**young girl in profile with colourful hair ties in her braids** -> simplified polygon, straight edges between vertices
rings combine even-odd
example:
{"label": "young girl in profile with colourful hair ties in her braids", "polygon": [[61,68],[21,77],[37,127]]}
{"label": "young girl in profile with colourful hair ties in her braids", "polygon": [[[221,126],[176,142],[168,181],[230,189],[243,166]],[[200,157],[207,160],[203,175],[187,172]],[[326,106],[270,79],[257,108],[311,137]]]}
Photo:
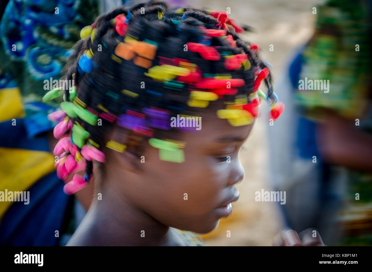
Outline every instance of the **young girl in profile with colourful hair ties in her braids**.
{"label": "young girl in profile with colourful hair ties in her braids", "polygon": [[44,97],[64,100],[50,116],[60,120],[64,191],[94,174],[92,204],[68,245],[195,245],[185,231],[208,233],[231,214],[260,100],[271,122],[284,110],[243,31],[227,14],[154,1],[81,30],[65,77],[75,86]]}

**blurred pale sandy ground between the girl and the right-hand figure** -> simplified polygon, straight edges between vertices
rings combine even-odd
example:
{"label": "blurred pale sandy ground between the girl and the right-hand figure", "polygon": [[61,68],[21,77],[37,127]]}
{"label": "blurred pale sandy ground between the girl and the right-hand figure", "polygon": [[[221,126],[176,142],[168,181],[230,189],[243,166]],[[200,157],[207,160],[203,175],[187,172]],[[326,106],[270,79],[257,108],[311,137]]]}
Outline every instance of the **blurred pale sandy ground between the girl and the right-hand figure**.
{"label": "blurred pale sandy ground between the girl and the right-hand figure", "polygon": [[[230,7],[229,17],[240,25],[253,27],[255,32],[247,33],[244,38],[259,45],[261,57],[273,65],[274,80],[288,69],[295,50],[311,37],[316,16],[312,14],[312,7],[317,6],[316,1],[310,0],[186,1],[193,7],[209,10],[226,11]],[[269,51],[270,44],[274,46],[273,52]],[[280,100],[280,93],[278,96]],[[254,201],[256,191],[272,190],[268,180],[266,110],[262,111],[240,152],[246,171],[244,180],[237,185],[240,198],[232,204],[232,215],[222,218],[217,229],[202,236],[207,246],[268,246],[283,224],[278,203]],[[226,237],[227,230],[231,231],[231,237]]]}

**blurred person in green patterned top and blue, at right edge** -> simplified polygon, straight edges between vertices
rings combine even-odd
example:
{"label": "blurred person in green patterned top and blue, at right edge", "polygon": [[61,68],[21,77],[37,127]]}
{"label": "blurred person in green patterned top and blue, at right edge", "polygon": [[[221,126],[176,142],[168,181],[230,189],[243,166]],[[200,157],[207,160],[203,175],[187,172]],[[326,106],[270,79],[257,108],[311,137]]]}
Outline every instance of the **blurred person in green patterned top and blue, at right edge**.
{"label": "blurred person in green patterned top and blue, at right edge", "polygon": [[315,227],[327,245],[372,245],[371,3],[317,7],[314,35],[276,84],[294,105],[269,135],[280,208],[287,226]]}

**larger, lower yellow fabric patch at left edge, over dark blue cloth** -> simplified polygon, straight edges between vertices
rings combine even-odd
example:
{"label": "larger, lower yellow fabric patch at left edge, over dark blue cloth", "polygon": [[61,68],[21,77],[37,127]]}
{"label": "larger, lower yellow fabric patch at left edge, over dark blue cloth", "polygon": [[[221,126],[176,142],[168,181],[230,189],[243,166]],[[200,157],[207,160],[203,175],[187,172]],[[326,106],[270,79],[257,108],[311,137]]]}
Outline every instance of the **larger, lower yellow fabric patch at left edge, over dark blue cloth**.
{"label": "larger, lower yellow fabric patch at left edge, over dark blue cloth", "polygon": [[[55,171],[49,152],[0,147],[0,191],[26,191],[36,181]],[[0,221],[12,202],[0,202]]]}

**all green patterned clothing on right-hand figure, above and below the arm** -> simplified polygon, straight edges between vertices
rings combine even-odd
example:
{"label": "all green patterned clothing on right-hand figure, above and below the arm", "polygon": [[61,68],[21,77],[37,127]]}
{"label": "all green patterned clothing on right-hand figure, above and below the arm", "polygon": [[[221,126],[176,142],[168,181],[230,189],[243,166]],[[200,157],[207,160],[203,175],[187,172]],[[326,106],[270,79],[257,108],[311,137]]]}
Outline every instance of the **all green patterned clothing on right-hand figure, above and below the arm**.
{"label": "all green patterned clothing on right-hand figure, above and below the arm", "polygon": [[[299,79],[329,80],[329,92],[296,90],[295,103],[310,119],[321,120],[322,109],[333,110],[347,119],[360,119],[356,128],[372,133],[371,110],[366,114],[372,106],[371,7],[366,3],[332,0],[317,8],[315,33],[302,54]],[[339,245],[371,246],[372,174],[351,169],[346,173],[346,204],[337,215]]]}

